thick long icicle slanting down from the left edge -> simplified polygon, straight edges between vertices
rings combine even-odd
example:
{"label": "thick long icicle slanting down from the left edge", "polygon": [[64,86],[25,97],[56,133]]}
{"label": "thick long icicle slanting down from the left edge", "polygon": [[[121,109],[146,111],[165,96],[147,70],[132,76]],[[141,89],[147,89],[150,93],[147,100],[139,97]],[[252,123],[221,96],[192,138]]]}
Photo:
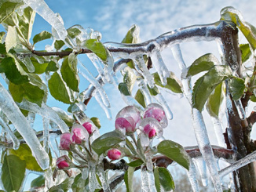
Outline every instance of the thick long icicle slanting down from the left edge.
{"label": "thick long icicle slanting down from the left edge", "polygon": [[20,132],[20,135],[23,136],[27,145],[31,148],[32,153],[35,155],[38,165],[40,165],[42,169],[49,168],[49,156],[46,150],[42,148],[38,138],[35,136],[35,132],[27,122],[27,119],[20,112],[19,107],[16,106],[13,97],[2,87],[2,84],[0,84],[0,93],[0,107],[3,113],[12,121],[16,130]]}

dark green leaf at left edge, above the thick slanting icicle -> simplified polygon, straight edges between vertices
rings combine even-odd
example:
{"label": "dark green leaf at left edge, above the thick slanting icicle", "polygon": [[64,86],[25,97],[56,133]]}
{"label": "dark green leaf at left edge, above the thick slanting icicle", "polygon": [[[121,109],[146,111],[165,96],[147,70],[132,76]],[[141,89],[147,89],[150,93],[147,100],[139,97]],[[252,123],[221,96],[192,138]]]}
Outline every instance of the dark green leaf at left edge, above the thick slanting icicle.
{"label": "dark green leaf at left edge, above the thick slanting icicle", "polygon": [[6,57],[0,63],[0,73],[5,73],[6,78],[16,85],[28,82],[27,75],[21,74],[20,70],[18,70],[20,68],[17,66],[18,64],[12,57]]}

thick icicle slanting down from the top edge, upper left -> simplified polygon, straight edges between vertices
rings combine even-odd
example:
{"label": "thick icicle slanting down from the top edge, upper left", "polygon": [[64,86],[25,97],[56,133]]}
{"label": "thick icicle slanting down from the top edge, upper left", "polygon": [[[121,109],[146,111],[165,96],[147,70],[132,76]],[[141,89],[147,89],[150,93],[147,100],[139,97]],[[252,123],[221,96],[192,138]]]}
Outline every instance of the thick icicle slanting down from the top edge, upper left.
{"label": "thick icicle slanting down from the top edge, upper left", "polygon": [[57,34],[61,40],[64,41],[65,38],[67,38],[68,32],[66,31],[64,25],[61,23],[55,13],[49,9],[49,6],[46,4],[46,2],[43,0],[24,0],[24,3],[34,9],[38,15],[42,16],[42,18],[57,31]]}

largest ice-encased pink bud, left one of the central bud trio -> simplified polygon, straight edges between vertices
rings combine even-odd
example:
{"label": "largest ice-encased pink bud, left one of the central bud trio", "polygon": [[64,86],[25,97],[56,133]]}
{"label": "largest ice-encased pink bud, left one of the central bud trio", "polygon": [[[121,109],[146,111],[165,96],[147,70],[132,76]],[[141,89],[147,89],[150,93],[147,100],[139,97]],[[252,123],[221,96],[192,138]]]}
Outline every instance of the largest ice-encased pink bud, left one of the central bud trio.
{"label": "largest ice-encased pink bud, left one of the central bud trio", "polygon": [[126,129],[126,134],[135,132],[138,121],[141,120],[140,111],[133,106],[124,107],[115,118],[115,129]]}

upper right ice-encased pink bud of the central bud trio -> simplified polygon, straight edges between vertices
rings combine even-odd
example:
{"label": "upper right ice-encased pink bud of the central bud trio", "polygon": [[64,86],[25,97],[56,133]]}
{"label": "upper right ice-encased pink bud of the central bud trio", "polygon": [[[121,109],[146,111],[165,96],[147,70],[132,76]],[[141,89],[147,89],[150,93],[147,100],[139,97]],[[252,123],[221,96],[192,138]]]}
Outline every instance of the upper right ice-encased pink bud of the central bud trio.
{"label": "upper right ice-encased pink bud of the central bud trio", "polygon": [[144,118],[155,118],[157,121],[159,121],[163,128],[166,128],[168,125],[163,107],[157,103],[151,103],[148,105],[144,112]]}

